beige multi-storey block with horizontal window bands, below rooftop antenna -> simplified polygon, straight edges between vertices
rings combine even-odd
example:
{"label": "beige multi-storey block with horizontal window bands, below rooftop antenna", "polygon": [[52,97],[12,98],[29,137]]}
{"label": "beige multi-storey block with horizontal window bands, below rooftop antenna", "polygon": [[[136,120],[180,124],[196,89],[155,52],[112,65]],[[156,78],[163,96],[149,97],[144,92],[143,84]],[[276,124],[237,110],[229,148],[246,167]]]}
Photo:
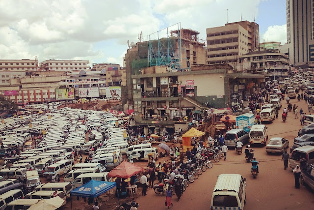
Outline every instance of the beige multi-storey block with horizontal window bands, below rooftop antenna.
{"label": "beige multi-storey block with horizontal window bands, below rooftop antenna", "polygon": [[206,29],[207,64],[228,63],[237,69],[239,56],[249,52],[248,31],[239,24]]}

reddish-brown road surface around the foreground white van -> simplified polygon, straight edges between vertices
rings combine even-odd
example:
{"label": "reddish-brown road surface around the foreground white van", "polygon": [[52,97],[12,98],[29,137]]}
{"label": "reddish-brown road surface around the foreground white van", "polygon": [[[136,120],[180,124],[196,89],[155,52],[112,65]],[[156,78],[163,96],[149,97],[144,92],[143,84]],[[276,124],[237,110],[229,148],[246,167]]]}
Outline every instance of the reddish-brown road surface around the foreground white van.
{"label": "reddish-brown road surface around the foreground white van", "polygon": [[[308,111],[305,101],[298,102],[296,99],[290,100],[291,104],[297,104],[298,109]],[[287,107],[283,101],[283,108]],[[308,112],[305,112],[308,113]],[[283,122],[280,118],[272,124],[268,124],[268,136],[284,137],[289,140],[289,146],[293,144],[293,139],[297,131],[302,128],[299,120],[294,119],[292,112],[288,113],[288,119]],[[183,193],[180,201],[173,196],[173,210],[205,210],[210,209],[210,198],[215,186],[217,176],[225,173],[241,174],[247,179],[247,210],[313,210],[314,193],[307,187],[294,188],[294,176],[292,170],[284,170],[281,155],[266,154],[264,147],[255,147],[255,157],[260,161],[260,173],[257,179],[253,179],[250,174],[251,164],[246,163],[244,153],[238,155],[235,150],[229,150],[227,160],[215,163],[211,169],[191,183]],[[139,193],[141,188],[139,188]],[[147,196],[142,196],[136,200],[140,204],[140,209],[166,209],[164,206],[165,196],[156,195],[151,189]]]}

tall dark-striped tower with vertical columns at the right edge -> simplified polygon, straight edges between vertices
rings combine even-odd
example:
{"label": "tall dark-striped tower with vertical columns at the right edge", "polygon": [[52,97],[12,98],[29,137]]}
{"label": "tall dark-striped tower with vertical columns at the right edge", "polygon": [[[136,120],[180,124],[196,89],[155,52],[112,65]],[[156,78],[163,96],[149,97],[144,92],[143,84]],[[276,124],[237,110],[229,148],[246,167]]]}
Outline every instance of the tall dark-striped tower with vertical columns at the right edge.
{"label": "tall dark-striped tower with vertical columns at the right edge", "polygon": [[287,0],[287,43],[295,66],[314,66],[314,1]]}

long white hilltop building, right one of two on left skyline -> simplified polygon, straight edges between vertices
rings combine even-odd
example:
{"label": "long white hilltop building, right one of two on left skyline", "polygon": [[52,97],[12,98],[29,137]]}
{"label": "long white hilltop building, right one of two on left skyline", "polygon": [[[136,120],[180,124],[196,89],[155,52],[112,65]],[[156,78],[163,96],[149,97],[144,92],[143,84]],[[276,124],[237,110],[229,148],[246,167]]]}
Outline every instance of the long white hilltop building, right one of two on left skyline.
{"label": "long white hilltop building, right one of two on left skyline", "polygon": [[81,71],[88,70],[88,60],[44,60],[39,63],[42,71]]}

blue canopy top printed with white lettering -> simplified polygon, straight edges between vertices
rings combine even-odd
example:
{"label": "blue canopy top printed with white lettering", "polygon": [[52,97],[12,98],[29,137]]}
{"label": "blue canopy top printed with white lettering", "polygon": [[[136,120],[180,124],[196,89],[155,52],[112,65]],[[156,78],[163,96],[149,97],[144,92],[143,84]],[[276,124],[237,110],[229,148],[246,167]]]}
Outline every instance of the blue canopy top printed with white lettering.
{"label": "blue canopy top printed with white lettering", "polygon": [[71,196],[95,198],[116,186],[116,182],[90,180],[86,184],[72,190]]}

